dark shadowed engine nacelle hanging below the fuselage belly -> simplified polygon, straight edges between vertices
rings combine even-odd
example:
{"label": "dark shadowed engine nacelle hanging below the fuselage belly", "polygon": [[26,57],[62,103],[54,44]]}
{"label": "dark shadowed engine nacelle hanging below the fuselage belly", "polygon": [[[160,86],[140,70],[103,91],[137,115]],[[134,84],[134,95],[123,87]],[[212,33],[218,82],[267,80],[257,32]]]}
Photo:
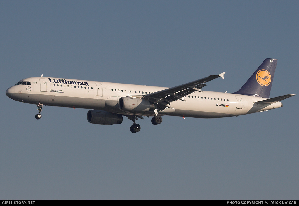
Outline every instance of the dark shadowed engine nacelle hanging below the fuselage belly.
{"label": "dark shadowed engine nacelle hanging below the fuselage belly", "polygon": [[97,125],[115,125],[123,122],[123,116],[102,110],[89,110],[87,112],[87,121]]}

